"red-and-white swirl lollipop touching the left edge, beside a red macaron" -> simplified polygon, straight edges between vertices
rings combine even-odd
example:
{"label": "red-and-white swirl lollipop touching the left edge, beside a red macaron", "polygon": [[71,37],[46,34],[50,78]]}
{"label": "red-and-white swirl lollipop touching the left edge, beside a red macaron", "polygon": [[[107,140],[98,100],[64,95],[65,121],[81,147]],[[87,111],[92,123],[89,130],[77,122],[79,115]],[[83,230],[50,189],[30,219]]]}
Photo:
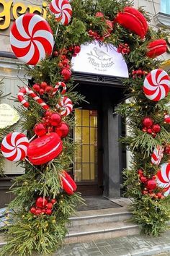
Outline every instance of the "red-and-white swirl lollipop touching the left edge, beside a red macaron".
{"label": "red-and-white swirl lollipop touching the left edge, beside a red macaron", "polygon": [[9,133],[1,142],[1,153],[9,161],[21,161],[27,155],[29,144],[29,140],[22,133]]}

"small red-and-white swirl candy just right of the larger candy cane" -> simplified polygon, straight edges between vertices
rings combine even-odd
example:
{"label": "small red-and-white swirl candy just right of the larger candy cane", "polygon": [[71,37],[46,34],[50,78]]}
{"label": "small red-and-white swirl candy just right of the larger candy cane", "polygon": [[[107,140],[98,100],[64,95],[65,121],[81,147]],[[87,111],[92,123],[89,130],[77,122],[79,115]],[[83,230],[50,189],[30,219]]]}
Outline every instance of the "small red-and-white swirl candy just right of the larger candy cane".
{"label": "small red-and-white swirl candy just right of the larger candy cane", "polygon": [[59,109],[61,116],[68,116],[73,110],[73,103],[68,97],[62,97],[56,107]]}

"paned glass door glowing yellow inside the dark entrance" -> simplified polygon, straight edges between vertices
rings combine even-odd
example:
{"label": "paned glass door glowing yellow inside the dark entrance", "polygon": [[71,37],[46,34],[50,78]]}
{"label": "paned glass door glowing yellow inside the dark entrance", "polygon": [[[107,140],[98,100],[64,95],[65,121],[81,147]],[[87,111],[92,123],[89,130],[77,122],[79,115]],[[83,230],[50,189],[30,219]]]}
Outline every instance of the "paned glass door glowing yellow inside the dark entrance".
{"label": "paned glass door glowing yellow inside the dark entrance", "polygon": [[97,109],[75,110],[74,142],[76,153],[73,174],[78,191],[82,195],[102,194],[102,155],[99,111]]}

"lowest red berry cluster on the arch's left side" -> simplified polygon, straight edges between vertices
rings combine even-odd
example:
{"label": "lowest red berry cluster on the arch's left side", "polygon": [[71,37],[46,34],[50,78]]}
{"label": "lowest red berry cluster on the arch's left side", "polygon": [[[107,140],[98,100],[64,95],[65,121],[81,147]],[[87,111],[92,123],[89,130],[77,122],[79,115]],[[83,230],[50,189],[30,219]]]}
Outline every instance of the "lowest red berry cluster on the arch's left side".
{"label": "lowest red berry cluster on the arch's left side", "polygon": [[57,200],[49,200],[45,197],[37,197],[35,206],[30,209],[30,212],[36,216],[41,214],[51,215],[53,213],[53,205]]}

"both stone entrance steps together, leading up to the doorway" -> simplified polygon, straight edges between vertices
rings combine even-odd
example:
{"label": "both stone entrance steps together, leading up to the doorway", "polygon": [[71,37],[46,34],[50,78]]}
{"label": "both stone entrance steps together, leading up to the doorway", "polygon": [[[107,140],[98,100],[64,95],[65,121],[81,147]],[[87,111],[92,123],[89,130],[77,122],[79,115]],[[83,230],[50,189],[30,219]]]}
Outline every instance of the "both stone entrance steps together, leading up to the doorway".
{"label": "both stone entrance steps together, leading up to the doorway", "polygon": [[131,223],[127,208],[109,208],[77,212],[70,218],[66,243],[88,242],[117,236],[139,234],[138,225]]}

